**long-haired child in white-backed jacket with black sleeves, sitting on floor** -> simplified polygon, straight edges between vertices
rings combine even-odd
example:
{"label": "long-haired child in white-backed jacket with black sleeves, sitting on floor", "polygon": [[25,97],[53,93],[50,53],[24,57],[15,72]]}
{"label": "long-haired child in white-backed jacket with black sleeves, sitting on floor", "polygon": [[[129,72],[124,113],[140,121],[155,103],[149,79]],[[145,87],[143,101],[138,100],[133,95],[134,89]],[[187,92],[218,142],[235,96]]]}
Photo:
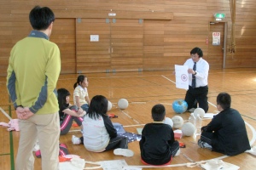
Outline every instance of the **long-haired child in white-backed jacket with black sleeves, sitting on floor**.
{"label": "long-haired child in white-backed jacket with black sleeves, sitting on floor", "polygon": [[133,156],[133,151],[128,150],[128,139],[117,134],[107,111],[108,99],[102,95],[94,96],[84,116],[83,137],[79,139],[73,136],[73,144],[84,144],[86,150],[93,152],[115,149],[114,155]]}

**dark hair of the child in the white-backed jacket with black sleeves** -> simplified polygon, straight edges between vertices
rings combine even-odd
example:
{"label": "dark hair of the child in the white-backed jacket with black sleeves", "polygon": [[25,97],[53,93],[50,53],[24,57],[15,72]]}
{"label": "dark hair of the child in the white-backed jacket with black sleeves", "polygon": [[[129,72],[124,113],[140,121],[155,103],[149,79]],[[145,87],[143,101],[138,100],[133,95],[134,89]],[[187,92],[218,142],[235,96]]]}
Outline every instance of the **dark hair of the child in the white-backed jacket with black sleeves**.
{"label": "dark hair of the child in the white-backed jacket with black sleeves", "polygon": [[107,115],[108,99],[102,95],[96,95],[90,100],[88,116],[91,119],[97,119],[100,116]]}

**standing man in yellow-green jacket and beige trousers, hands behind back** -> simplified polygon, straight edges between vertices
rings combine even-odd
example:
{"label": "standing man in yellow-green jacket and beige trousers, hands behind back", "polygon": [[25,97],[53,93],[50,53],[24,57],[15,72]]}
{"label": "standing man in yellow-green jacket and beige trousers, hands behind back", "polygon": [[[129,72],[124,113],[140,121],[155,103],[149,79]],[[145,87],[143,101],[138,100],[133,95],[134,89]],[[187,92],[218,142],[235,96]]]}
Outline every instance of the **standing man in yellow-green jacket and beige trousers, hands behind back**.
{"label": "standing man in yellow-green jacket and beige trousers, hands behind back", "polygon": [[61,54],[49,42],[55,14],[36,6],[29,14],[33,30],[10,52],[7,88],[19,118],[20,142],[15,169],[33,169],[32,149],[38,139],[42,169],[58,169],[60,119],[56,83]]}

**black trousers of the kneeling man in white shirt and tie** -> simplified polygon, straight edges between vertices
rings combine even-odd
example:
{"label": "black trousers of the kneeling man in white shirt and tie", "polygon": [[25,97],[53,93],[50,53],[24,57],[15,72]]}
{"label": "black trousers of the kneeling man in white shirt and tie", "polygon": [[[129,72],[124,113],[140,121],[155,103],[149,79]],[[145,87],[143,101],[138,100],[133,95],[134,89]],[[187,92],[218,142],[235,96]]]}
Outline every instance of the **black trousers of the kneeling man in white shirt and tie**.
{"label": "black trousers of the kneeling man in white shirt and tie", "polygon": [[208,86],[200,88],[192,88],[189,86],[187,90],[185,101],[188,103],[188,110],[191,108],[196,108],[196,104],[199,104],[199,107],[202,108],[206,113],[209,109],[208,105]]}

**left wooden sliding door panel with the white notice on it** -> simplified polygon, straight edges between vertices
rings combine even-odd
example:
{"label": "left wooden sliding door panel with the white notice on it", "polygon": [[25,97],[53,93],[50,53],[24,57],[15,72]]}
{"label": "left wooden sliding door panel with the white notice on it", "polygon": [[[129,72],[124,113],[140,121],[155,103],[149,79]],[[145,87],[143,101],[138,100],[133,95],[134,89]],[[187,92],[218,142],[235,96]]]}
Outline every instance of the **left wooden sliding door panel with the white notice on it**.
{"label": "left wooden sliding door panel with the white notice on it", "polygon": [[[90,42],[98,35],[98,42]],[[110,24],[106,19],[80,19],[76,26],[77,72],[106,72],[111,70]]]}

